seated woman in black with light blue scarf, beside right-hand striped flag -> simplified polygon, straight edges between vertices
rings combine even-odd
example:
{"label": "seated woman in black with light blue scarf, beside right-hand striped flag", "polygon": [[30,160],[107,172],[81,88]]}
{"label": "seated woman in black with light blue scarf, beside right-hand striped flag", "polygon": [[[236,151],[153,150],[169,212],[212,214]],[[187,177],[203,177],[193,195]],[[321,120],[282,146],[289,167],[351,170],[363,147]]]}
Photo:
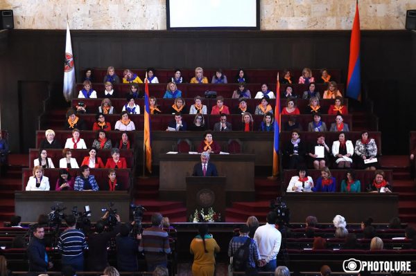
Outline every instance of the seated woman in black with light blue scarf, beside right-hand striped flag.
{"label": "seated woman in black with light blue scarf, beside right-hand striped flag", "polygon": [[284,155],[288,158],[288,169],[297,169],[304,164],[306,147],[300,139],[299,131],[292,131],[292,138],[284,146]]}

